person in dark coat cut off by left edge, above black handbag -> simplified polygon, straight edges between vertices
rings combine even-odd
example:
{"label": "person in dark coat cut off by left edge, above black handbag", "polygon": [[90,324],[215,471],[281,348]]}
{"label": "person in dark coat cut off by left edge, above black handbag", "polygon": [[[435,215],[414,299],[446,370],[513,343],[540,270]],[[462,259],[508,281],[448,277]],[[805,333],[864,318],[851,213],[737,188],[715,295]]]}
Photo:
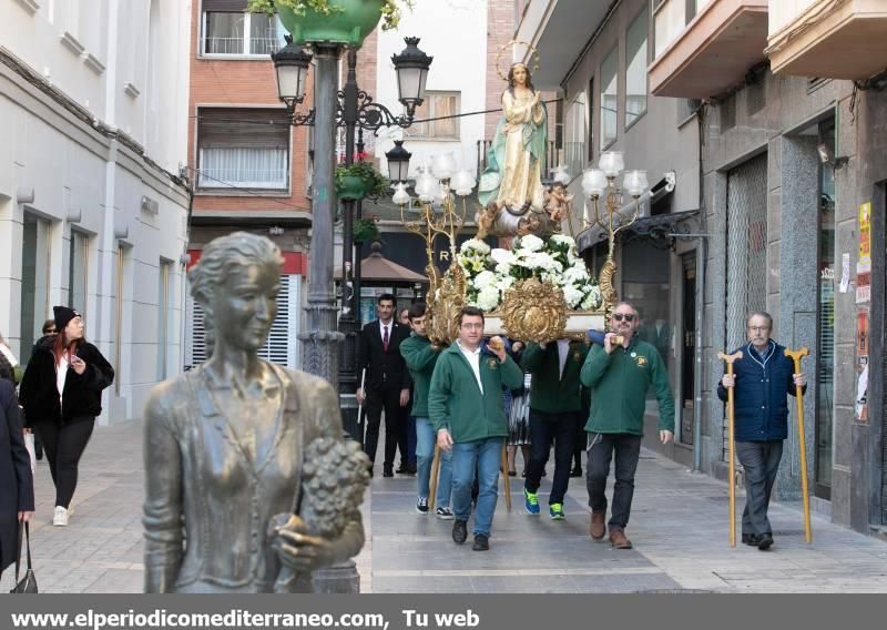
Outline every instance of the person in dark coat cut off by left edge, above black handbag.
{"label": "person in dark coat cut off by left edge, above black handbag", "polygon": [[34,515],[31,457],[24,448],[16,388],[0,380],[0,575],[16,561],[19,527]]}

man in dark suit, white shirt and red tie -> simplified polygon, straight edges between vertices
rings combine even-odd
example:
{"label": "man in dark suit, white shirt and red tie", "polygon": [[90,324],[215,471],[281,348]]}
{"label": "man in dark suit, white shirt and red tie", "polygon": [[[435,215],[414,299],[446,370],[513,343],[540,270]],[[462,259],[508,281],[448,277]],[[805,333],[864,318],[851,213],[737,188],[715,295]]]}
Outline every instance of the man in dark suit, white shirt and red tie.
{"label": "man in dark suit, white shirt and red tie", "polygon": [[[367,410],[367,434],[364,451],[376,460],[381,411],[385,410],[385,463],[383,476],[394,477],[394,459],[398,445],[398,431],[409,403],[410,376],[400,354],[400,343],[409,337],[409,327],[395,322],[395,296],[385,293],[376,301],[378,319],[374,319],[360,333],[357,370],[366,369],[365,387],[358,388],[357,402]],[[404,463],[407,454],[400,454]],[[371,471],[370,471],[371,474]]]}

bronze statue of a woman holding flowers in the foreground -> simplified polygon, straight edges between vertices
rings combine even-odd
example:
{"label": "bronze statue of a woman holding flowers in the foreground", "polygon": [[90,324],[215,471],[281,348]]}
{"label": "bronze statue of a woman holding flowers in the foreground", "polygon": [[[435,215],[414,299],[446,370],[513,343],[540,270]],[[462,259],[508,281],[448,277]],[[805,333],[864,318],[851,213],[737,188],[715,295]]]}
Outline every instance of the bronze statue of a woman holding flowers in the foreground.
{"label": "bronze statue of a woman holding flowers in the foreground", "polygon": [[[282,262],[271,241],[241,232],[210,243],[188,273],[212,356],[155,387],[145,408],[145,592],[310,592],[310,571],[364,545],[368,461],[343,440],[336,392],[256,356]],[[318,444],[322,456],[306,455]],[[329,470],[335,453],[345,465]],[[325,517],[338,526],[294,516],[312,476],[341,488]]]}

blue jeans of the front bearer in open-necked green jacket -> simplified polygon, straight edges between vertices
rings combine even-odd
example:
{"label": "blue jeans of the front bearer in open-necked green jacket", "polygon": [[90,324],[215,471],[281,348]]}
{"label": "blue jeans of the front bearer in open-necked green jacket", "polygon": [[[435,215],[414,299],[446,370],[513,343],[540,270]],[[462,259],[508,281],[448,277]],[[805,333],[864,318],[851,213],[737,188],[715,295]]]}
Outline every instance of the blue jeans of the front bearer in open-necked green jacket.
{"label": "blue jeans of the front bearer in open-necked green jacket", "polygon": [[492,528],[504,439],[488,437],[452,445],[452,511],[459,520],[468,520],[471,516],[471,485],[475,470],[478,474],[480,492],[475,512],[475,536],[489,536]]}

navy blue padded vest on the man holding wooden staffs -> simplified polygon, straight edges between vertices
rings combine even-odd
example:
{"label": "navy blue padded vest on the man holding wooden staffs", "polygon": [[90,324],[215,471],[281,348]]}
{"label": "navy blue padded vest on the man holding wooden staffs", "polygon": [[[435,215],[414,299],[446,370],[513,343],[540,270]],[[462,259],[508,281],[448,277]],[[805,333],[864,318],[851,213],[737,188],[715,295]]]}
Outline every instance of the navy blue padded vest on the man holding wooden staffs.
{"label": "navy blue padded vest on the man holding wooden staffs", "polygon": [[[763,362],[751,342],[738,348],[734,362],[734,437],[737,441],[767,441],[788,437],[788,399],[795,395],[795,365],[785,348],[771,339],[771,353]],[[726,388],[717,384],[717,397],[726,402]]]}

